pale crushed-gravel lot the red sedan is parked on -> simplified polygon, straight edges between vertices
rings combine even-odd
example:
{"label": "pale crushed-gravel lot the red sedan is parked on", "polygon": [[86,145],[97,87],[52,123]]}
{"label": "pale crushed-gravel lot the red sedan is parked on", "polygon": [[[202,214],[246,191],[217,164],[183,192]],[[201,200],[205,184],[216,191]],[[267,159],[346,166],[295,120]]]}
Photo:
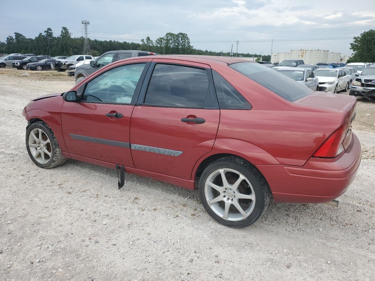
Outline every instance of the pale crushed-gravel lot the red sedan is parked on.
{"label": "pale crushed-gravel lot the red sedan is parked on", "polygon": [[[23,107],[74,85],[0,69],[0,280],[374,280],[375,103],[359,101],[362,163],[339,208],[272,202],[246,229],[213,221],[198,193],[68,160],[43,170]],[[342,93],[348,94],[348,93]]]}

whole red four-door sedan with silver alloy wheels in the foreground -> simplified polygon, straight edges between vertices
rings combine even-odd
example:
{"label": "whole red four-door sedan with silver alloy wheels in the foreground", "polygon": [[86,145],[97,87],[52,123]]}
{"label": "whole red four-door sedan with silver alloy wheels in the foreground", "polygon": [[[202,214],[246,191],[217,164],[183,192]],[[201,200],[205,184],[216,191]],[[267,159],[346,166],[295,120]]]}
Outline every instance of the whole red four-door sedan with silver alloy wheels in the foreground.
{"label": "whole red four-door sedan with silver alloy wheels in the foreground", "polygon": [[208,214],[254,223],[275,201],[330,202],[361,160],[356,99],[240,58],[137,57],[23,110],[31,160],[73,158],[198,189]]}

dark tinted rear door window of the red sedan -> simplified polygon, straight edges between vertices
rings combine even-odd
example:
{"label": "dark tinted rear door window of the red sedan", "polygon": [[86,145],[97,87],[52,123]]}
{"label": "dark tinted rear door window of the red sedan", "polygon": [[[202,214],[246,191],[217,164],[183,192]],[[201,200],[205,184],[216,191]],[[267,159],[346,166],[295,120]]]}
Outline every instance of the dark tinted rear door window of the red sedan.
{"label": "dark tinted rear door window of the red sedan", "polygon": [[208,85],[205,69],[156,64],[144,102],[150,105],[203,108]]}

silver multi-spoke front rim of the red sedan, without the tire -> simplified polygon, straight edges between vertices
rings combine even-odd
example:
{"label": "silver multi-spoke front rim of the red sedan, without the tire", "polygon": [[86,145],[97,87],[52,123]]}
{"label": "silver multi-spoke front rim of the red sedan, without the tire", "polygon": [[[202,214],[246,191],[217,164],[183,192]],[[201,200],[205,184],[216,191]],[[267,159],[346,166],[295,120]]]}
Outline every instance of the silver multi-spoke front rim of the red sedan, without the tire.
{"label": "silver multi-spoke front rim of the red sedan, without the tire", "polygon": [[46,164],[51,159],[51,142],[42,129],[36,128],[30,132],[28,135],[28,147],[31,155],[38,163]]}

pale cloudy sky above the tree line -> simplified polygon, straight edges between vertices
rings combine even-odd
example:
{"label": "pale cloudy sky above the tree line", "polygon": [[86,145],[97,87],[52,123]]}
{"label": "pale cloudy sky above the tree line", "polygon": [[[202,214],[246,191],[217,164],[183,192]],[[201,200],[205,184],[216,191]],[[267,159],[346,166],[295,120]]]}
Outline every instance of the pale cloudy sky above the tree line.
{"label": "pale cloudy sky above the tree line", "polygon": [[[24,2],[24,3],[23,3]],[[90,38],[139,42],[167,32],[187,33],[198,49],[270,54],[291,49],[326,49],[351,54],[350,42],[375,29],[375,2],[362,0],[1,0],[0,41],[14,32],[35,37],[62,26],[81,36],[90,20]],[[13,11],[13,12],[6,12]]]}

